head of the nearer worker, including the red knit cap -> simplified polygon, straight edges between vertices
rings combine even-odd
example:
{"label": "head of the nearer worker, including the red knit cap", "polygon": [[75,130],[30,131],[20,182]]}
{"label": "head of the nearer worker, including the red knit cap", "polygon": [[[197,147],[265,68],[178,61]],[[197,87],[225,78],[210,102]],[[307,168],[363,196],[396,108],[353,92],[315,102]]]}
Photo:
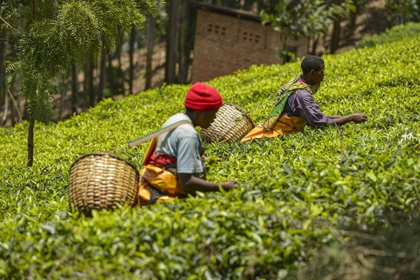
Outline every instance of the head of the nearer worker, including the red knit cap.
{"label": "head of the nearer worker, including the red knit cap", "polygon": [[187,112],[193,116],[193,124],[207,128],[216,118],[216,112],[223,105],[223,98],[217,90],[203,83],[195,83],[188,90],[184,102]]}

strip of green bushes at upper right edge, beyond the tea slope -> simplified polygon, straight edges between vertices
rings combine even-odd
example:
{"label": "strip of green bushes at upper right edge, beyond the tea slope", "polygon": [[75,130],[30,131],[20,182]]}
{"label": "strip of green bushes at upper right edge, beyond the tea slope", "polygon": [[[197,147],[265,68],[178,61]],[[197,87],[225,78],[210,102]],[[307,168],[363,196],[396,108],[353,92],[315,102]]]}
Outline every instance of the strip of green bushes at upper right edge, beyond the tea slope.
{"label": "strip of green bushes at upper right edge, beyond the tea slope", "polygon": [[397,25],[386,29],[385,33],[376,36],[365,36],[356,43],[358,48],[373,47],[383,43],[400,41],[402,38],[418,37],[420,34],[420,24],[409,22],[405,25]]}

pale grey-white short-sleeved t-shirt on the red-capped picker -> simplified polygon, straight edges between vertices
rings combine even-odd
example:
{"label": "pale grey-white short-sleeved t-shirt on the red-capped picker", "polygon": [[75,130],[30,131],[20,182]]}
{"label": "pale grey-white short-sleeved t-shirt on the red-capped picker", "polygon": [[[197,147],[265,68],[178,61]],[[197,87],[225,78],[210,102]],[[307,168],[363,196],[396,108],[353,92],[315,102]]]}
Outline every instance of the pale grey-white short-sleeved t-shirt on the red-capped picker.
{"label": "pale grey-white short-sleeved t-shirt on the red-capped picker", "polygon": [[[177,113],[170,117],[162,127],[167,127],[181,120],[190,118],[185,113]],[[203,167],[200,157],[202,150],[202,140],[193,125],[180,125],[174,130],[166,132],[158,136],[156,144],[156,155],[166,153],[170,157],[176,158],[176,172],[195,174],[203,173]]]}

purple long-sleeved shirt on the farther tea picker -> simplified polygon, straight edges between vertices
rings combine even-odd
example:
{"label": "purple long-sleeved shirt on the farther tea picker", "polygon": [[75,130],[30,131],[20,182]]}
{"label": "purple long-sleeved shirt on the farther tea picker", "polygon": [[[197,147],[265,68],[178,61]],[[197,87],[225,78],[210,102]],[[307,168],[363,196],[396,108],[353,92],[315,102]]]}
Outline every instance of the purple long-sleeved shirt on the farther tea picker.
{"label": "purple long-sleeved shirt on the farther tea picker", "polygon": [[288,98],[283,113],[287,116],[300,117],[306,120],[307,125],[320,127],[325,125],[334,125],[332,118],[327,118],[319,110],[314,97],[307,90],[296,90]]}

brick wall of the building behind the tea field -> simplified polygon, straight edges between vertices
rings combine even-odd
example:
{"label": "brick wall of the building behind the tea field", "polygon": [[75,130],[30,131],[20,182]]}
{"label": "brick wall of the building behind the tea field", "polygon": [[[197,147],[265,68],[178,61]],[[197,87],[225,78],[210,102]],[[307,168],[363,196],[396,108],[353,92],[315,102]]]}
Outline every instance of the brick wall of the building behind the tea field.
{"label": "brick wall of the building behind the tea field", "polygon": [[[307,38],[292,41],[298,57],[307,55]],[[260,22],[198,10],[191,82],[228,75],[253,64],[277,64],[279,32]]]}

